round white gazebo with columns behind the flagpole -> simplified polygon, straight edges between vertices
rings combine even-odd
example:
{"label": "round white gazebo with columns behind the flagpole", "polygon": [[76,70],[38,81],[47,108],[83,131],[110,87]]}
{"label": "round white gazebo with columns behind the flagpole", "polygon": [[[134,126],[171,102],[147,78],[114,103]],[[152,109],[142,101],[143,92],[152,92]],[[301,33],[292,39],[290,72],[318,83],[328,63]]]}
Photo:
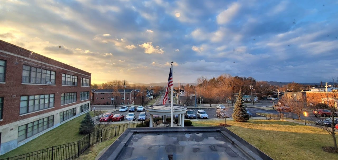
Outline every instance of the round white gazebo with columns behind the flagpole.
{"label": "round white gazebo with columns behind the flagpole", "polygon": [[[173,105],[173,115],[178,115],[178,123],[181,124],[181,127],[184,127],[184,113],[187,110],[187,106],[184,105]],[[150,105],[146,106],[145,110],[150,114],[149,127],[153,127],[153,115],[164,115],[164,119],[167,119],[167,116],[171,116],[171,104],[166,105]]]}

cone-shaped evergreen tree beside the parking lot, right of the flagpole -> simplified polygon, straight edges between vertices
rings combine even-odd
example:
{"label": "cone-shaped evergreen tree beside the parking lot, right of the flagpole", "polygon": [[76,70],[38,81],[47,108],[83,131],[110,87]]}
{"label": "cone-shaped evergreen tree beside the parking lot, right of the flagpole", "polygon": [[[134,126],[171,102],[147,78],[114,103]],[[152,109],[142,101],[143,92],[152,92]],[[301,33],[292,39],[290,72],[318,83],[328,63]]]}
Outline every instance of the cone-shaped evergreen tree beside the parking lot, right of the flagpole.
{"label": "cone-shaped evergreen tree beside the parking lot, right of the flagpole", "polygon": [[246,112],[246,107],[244,105],[241,90],[238,93],[238,98],[235,103],[234,113],[232,114],[232,117],[236,122],[246,122],[247,120],[249,120],[249,114]]}

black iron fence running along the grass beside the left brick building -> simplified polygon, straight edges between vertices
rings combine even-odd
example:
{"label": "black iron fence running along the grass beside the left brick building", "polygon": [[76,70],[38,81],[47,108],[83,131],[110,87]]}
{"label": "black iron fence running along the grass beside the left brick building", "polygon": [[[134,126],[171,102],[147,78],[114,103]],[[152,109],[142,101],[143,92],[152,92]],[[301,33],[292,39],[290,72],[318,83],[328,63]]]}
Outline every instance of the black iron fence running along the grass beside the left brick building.
{"label": "black iron fence running along the grass beside the left brick building", "polygon": [[144,123],[144,121],[136,121],[116,125],[115,127],[107,128],[101,131],[90,133],[82,139],[52,146],[43,150],[26,153],[23,155],[8,157],[0,160],[68,160],[79,157],[81,153],[86,151],[90,146],[100,143],[104,140],[111,139],[122,134],[127,128],[135,128],[137,124]]}

